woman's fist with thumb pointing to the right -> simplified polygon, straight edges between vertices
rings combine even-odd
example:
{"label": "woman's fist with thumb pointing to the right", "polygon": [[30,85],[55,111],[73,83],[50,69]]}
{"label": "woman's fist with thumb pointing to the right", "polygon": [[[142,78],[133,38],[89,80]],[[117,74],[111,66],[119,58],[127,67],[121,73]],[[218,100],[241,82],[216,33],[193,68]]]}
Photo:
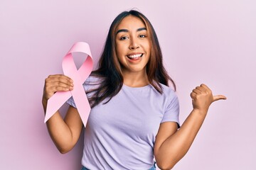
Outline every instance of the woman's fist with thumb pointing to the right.
{"label": "woman's fist with thumb pointing to the right", "polygon": [[207,113],[210,104],[214,101],[226,99],[223,95],[213,96],[212,91],[205,84],[201,84],[201,86],[197,86],[196,89],[193,89],[191,98],[193,109],[201,113]]}

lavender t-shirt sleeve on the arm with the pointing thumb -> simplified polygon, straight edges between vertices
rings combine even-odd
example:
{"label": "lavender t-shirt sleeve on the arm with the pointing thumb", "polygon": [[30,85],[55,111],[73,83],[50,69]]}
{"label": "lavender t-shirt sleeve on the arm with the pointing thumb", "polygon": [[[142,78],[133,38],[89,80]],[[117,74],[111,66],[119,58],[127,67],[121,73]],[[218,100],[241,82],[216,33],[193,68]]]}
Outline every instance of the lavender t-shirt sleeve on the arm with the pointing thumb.
{"label": "lavender t-shirt sleeve on the arm with the pointing thumb", "polygon": [[164,116],[161,120],[161,123],[164,122],[176,122],[178,124],[178,128],[180,128],[180,123],[179,123],[179,103],[178,103],[178,96],[173,93],[170,95],[171,100],[167,104],[166,111],[164,112]]}

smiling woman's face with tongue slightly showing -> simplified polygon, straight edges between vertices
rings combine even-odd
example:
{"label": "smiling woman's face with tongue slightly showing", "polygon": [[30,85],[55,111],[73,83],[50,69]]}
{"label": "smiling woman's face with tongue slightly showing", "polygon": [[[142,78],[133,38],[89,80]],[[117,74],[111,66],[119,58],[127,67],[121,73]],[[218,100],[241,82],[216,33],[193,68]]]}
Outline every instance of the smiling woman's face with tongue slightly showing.
{"label": "smiling woman's face with tongue slightly showing", "polygon": [[117,57],[123,73],[145,73],[150,44],[145,24],[135,16],[125,17],[116,32]]}

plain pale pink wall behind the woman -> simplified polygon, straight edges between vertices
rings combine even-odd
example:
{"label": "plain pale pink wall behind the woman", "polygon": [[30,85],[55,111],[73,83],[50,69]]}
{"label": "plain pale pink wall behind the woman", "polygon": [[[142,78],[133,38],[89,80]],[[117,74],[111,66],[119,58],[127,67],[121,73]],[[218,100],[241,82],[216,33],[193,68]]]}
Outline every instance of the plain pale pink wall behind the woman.
{"label": "plain pale pink wall behind the woman", "polygon": [[80,169],[82,140],[60,154],[43,123],[44,79],[62,73],[62,58],[77,41],[90,44],[96,63],[110,23],[133,7],[158,34],[178,87],[181,123],[195,86],[228,97],[213,103],[174,169],[256,169],[255,0],[1,0],[0,169]]}

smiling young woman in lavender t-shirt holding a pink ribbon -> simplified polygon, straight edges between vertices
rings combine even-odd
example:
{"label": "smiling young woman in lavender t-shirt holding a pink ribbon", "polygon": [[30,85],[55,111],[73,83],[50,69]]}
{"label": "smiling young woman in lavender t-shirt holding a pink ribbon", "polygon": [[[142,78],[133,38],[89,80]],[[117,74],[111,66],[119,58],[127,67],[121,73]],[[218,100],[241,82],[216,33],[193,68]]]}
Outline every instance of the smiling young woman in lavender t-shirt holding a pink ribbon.
{"label": "smiling young woman in lavender t-shirt holding a pink ribbon", "polygon": [[[82,169],[171,169],[185,154],[213,101],[208,86],[193,89],[193,110],[179,128],[178,98],[162,63],[159,42],[149,20],[124,11],[110,26],[99,67],[85,81],[92,110],[85,128]],[[46,79],[43,108],[56,91],[73,90],[65,75]],[[72,149],[82,132],[73,98],[61,118],[56,112],[48,132],[61,153]],[[178,130],[179,128],[179,130]]]}

